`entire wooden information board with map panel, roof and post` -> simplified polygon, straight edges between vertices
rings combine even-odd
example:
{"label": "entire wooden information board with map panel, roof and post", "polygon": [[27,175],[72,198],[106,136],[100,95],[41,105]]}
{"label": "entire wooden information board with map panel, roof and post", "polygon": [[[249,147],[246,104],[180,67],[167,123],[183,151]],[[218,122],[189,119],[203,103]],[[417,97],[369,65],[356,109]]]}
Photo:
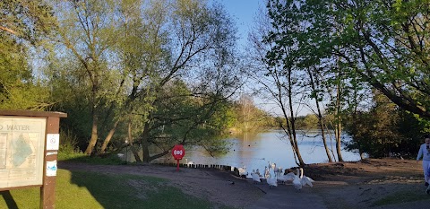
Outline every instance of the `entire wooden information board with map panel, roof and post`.
{"label": "entire wooden information board with map panel, roof and post", "polygon": [[0,191],[40,187],[40,208],[55,208],[62,112],[0,110]]}

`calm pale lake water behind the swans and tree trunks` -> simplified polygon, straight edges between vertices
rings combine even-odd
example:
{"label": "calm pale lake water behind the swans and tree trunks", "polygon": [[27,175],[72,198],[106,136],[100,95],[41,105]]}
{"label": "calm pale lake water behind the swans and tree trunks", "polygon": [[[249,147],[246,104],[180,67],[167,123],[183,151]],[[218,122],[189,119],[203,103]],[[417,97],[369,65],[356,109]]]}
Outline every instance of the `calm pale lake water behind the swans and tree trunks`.
{"label": "calm pale lake water behind the swans and tree trunks", "polygon": [[[321,136],[312,136],[315,133],[307,133],[306,135],[308,136],[297,135],[300,152],[305,163],[328,161]],[[343,135],[343,137],[344,140],[350,140],[348,135]],[[193,161],[196,164],[246,166],[246,169],[250,171],[264,170],[264,166],[268,164],[268,161],[275,162],[280,168],[297,166],[288,138],[283,136],[282,131],[272,130],[258,135],[244,135],[228,139],[228,141],[232,146],[226,155],[211,157],[202,149],[185,148],[185,157],[181,162]],[[330,138],[328,143],[330,146]],[[334,139],[332,149],[336,153]],[[344,150],[342,150],[342,157],[344,161],[358,161],[360,159],[358,153]]]}

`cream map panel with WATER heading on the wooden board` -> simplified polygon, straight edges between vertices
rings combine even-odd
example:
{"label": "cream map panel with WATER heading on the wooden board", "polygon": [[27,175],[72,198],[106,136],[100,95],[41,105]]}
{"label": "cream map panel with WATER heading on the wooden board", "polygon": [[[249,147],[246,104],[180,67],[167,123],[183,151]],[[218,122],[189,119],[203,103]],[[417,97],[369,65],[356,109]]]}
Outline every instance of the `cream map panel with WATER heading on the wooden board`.
{"label": "cream map panel with WATER heading on the wooden board", "polygon": [[0,117],[0,188],[42,185],[46,123]]}

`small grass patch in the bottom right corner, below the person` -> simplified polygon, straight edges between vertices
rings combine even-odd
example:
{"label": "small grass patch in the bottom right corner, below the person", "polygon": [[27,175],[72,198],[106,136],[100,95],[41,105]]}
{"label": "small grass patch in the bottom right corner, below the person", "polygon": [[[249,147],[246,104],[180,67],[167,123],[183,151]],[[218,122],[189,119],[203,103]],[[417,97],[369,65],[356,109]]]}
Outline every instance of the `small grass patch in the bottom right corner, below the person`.
{"label": "small grass patch in the bottom right corner, below the person", "polygon": [[424,191],[405,190],[393,193],[389,196],[384,196],[383,198],[375,201],[372,206],[401,204],[418,200],[428,200],[428,195],[424,193]]}

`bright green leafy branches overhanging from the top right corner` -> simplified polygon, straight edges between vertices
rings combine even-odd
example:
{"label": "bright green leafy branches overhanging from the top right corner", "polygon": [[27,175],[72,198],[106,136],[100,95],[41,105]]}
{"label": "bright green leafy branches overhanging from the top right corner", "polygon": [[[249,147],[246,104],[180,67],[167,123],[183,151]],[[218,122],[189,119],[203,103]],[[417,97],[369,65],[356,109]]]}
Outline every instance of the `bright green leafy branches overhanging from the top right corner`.
{"label": "bright green leafy branches overhanging from the top right corner", "polygon": [[[401,109],[429,118],[426,1],[325,1],[342,30],[321,46]],[[401,11],[401,12],[400,12]]]}

